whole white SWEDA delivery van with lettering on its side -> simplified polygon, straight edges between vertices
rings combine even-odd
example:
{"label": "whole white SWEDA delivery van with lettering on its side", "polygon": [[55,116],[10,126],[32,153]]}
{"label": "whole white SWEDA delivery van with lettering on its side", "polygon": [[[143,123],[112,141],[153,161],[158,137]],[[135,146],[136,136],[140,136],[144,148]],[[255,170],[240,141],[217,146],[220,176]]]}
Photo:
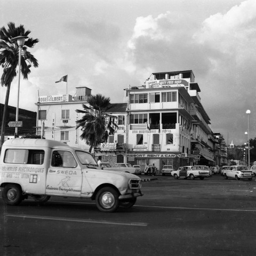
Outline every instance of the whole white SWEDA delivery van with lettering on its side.
{"label": "whole white SWEDA delivery van with lettering on its side", "polygon": [[18,205],[32,196],[90,198],[102,212],[132,207],[141,179],[130,173],[101,170],[91,154],[44,139],[7,140],[0,156],[0,189],[5,204]]}

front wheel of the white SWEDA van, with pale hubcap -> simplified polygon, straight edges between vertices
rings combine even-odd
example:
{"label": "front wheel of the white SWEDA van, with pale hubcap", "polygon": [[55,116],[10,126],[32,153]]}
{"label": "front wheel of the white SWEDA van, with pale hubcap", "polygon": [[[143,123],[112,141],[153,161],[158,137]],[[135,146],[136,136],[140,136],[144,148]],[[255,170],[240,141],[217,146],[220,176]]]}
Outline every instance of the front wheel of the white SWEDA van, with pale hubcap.
{"label": "front wheel of the white SWEDA van, with pale hubcap", "polygon": [[96,195],[96,205],[101,212],[115,212],[119,207],[118,193],[114,188],[101,188]]}

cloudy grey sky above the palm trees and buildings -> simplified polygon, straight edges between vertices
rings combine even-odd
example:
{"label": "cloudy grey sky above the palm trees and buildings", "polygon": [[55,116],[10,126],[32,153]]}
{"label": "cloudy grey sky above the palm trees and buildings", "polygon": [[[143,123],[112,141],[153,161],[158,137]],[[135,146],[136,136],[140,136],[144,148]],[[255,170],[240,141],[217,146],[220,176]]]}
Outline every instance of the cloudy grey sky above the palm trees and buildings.
{"label": "cloudy grey sky above the palm trees and buildings", "polygon": [[212,131],[242,145],[250,109],[256,137],[255,0],[0,0],[0,26],[10,21],[39,39],[30,49],[39,67],[21,79],[20,108],[36,111],[38,92],[65,94],[66,83],[55,83],[64,75],[69,94],[86,86],[116,103],[151,73],[193,70]]}

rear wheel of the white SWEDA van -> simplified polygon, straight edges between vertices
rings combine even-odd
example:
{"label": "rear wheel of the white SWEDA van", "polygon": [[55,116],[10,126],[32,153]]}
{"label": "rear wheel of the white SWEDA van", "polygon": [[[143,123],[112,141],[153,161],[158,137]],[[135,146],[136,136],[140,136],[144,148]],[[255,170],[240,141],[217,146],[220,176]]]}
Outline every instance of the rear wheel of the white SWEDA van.
{"label": "rear wheel of the white SWEDA van", "polygon": [[22,191],[16,184],[7,184],[3,189],[3,201],[8,205],[19,205],[22,201]]}

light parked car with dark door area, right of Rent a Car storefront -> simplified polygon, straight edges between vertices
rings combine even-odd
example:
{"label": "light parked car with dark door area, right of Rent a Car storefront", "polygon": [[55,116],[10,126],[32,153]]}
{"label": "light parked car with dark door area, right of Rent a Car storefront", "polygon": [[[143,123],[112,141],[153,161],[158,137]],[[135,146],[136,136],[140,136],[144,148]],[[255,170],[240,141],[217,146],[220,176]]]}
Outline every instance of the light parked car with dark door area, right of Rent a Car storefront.
{"label": "light parked car with dark door area, right of Rent a Car storefront", "polygon": [[179,178],[190,178],[191,180],[194,180],[195,178],[199,178],[203,180],[204,178],[210,177],[210,171],[205,170],[204,168],[201,168],[201,166],[182,166],[179,167],[177,171],[173,171],[172,175],[174,179]]}

